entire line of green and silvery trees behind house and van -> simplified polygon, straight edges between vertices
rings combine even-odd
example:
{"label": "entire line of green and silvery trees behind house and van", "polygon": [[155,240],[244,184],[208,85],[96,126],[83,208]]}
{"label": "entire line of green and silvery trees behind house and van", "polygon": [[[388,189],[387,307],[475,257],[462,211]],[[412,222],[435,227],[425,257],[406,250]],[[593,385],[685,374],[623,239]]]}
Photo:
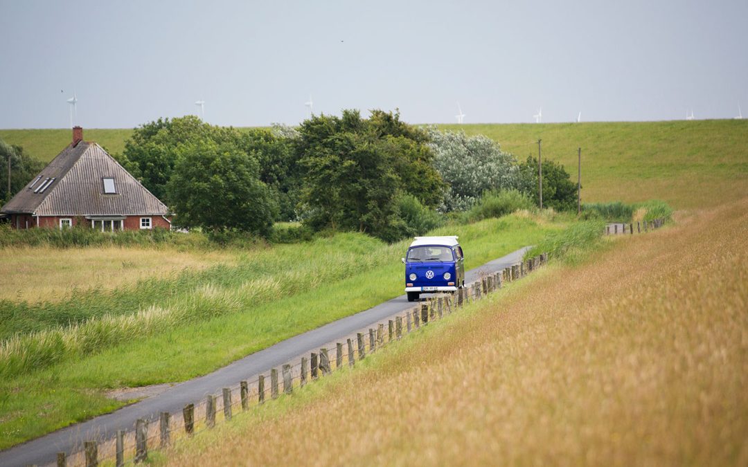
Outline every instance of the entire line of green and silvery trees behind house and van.
{"label": "entire line of green and silvery trees behind house and van", "polygon": [[[13,151],[20,161],[22,149]],[[536,159],[519,162],[488,137],[409,125],[397,111],[344,110],[270,129],[163,118],[135,129],[114,158],[170,206],[176,226],[212,234],[267,238],[276,222],[301,221],[313,232],[396,241],[450,217],[500,214],[497,205],[530,207],[538,198]],[[12,193],[40,168],[19,170],[25,181]],[[564,168],[546,159],[542,169],[544,205],[574,208],[576,185]]]}

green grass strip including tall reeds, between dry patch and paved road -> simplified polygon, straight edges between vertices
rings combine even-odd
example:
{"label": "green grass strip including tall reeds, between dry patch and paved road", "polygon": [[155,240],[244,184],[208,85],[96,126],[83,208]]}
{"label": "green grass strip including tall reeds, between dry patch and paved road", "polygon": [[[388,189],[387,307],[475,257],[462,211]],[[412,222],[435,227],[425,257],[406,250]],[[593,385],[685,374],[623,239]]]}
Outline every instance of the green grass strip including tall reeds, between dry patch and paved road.
{"label": "green grass strip including tall reeds, between dry patch and paved road", "polygon": [[[559,227],[515,215],[435,233],[460,235],[469,252],[467,267],[476,267]],[[406,245],[340,234],[234,252],[234,266],[91,291],[58,303],[8,306],[4,333],[12,334],[14,324],[19,335],[0,349],[0,448],[121,406],[105,398],[106,389],[206,374],[400,295],[399,258]],[[100,300],[109,300],[108,312],[96,306]],[[127,306],[114,305],[118,300]],[[64,312],[81,310],[91,314],[79,316],[80,324],[58,324]],[[37,328],[42,330],[28,331]]]}

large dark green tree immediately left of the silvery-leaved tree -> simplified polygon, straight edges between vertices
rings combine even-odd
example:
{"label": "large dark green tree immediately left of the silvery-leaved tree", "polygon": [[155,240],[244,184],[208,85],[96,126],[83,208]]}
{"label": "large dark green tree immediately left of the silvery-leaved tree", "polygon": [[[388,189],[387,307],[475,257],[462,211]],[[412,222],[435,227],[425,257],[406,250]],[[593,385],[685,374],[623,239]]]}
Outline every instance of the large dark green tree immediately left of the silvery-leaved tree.
{"label": "large dark green tree immediately left of the silvery-leaved tree", "polygon": [[444,182],[432,167],[426,134],[399,114],[343,111],[301,124],[299,163],[304,168],[301,200],[305,223],[314,229],[368,232],[387,241],[405,235],[401,194],[426,206],[439,205]]}

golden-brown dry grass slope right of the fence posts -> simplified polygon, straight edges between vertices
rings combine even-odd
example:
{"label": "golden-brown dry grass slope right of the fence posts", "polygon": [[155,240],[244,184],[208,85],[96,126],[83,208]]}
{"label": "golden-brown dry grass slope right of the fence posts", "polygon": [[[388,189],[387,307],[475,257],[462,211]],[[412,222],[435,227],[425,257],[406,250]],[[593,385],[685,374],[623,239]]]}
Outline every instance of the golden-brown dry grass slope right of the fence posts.
{"label": "golden-brown dry grass slope right of the fence posts", "polygon": [[169,463],[747,465],[746,238],[748,199],[611,240]]}

